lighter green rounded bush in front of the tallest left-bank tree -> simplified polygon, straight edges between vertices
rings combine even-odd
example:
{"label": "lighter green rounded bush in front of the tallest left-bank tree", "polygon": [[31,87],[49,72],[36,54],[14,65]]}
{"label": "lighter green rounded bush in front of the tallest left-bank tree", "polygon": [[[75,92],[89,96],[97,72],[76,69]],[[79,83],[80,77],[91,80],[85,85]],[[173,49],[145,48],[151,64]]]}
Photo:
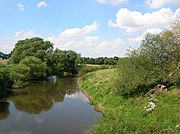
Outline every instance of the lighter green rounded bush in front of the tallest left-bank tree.
{"label": "lighter green rounded bush in front of the tallest left-bank tree", "polygon": [[19,64],[10,64],[8,68],[13,88],[21,88],[28,84],[28,80],[43,78],[47,75],[46,63],[34,56],[25,57]]}

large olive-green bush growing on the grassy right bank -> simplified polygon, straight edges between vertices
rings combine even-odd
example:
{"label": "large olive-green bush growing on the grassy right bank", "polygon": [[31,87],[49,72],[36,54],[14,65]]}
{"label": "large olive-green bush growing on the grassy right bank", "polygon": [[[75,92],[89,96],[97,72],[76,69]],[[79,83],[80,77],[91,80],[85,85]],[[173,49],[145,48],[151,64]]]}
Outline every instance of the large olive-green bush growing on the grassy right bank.
{"label": "large olive-green bush growing on the grassy right bank", "polygon": [[147,34],[140,49],[119,60],[118,91],[129,97],[144,94],[157,84],[180,84],[179,57],[180,41],[173,29],[157,35]]}

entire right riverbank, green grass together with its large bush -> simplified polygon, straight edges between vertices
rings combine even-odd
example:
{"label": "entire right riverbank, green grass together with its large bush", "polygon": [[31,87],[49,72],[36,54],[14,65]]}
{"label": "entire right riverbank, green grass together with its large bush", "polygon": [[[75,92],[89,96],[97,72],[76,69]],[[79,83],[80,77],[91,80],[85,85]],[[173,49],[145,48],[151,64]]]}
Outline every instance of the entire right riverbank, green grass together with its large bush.
{"label": "entire right riverbank, green grass together with its large bush", "polygon": [[[118,61],[116,69],[84,75],[82,90],[103,117],[92,134],[180,133],[180,23],[147,34],[141,47]],[[158,84],[166,93],[145,97]]]}

